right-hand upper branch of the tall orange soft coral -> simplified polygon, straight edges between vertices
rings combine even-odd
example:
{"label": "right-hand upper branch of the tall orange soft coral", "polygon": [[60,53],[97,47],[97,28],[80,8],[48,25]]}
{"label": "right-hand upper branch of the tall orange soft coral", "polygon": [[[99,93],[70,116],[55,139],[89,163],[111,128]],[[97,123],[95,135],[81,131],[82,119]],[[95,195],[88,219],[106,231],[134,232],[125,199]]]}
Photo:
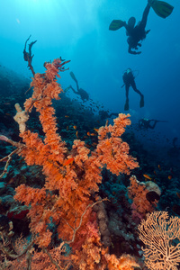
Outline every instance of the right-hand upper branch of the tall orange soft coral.
{"label": "right-hand upper branch of the tall orange soft coral", "polygon": [[125,127],[130,125],[130,114],[119,114],[114,120],[114,125],[101,127],[98,131],[99,143],[96,152],[98,160],[106,165],[113,174],[130,174],[130,169],[138,166],[136,159],[129,155],[129,145],[120,138]]}

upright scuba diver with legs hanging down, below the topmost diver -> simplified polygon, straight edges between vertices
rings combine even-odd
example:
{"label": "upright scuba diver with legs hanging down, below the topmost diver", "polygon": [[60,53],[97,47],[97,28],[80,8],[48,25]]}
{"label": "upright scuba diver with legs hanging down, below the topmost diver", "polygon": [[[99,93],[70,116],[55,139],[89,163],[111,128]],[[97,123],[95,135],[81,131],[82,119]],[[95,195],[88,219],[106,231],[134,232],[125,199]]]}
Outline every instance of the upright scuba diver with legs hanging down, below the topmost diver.
{"label": "upright scuba diver with legs hanging down, below the topmost diver", "polygon": [[[144,107],[144,95],[141,94],[140,91],[137,89],[134,78],[135,77],[132,74],[131,68],[128,68],[124,72],[124,74],[122,76],[122,79],[123,79],[123,82],[124,82],[124,85],[125,85],[125,88],[126,88],[126,103],[124,105],[124,111],[128,111],[129,110],[129,89],[130,89],[130,86],[132,87],[132,89],[136,93],[138,93],[140,95],[139,107],[140,108]],[[123,87],[124,85],[122,85],[121,87]]]}

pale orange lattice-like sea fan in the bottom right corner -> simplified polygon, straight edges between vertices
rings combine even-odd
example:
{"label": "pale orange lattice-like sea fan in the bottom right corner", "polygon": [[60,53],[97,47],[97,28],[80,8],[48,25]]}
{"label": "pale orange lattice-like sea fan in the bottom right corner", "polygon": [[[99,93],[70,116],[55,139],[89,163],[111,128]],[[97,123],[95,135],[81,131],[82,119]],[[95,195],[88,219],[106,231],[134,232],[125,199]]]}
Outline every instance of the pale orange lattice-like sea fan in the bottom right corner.
{"label": "pale orange lattice-like sea fan in the bottom right corner", "polygon": [[176,270],[180,263],[180,219],[168,217],[166,211],[148,213],[139,225],[148,269]]}

